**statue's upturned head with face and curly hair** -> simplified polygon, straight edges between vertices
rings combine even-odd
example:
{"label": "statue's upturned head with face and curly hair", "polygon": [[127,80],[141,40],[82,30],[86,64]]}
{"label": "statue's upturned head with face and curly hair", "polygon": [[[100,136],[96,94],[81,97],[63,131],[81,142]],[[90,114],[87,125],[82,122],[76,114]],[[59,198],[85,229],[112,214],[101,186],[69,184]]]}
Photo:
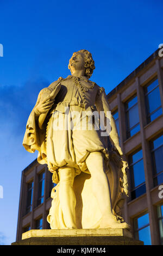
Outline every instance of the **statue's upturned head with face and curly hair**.
{"label": "statue's upturned head with face and curly hair", "polygon": [[93,74],[93,69],[95,69],[95,62],[92,58],[92,54],[87,50],[80,50],[72,54],[69,60],[68,69],[83,70],[85,69],[85,76],[90,78]]}

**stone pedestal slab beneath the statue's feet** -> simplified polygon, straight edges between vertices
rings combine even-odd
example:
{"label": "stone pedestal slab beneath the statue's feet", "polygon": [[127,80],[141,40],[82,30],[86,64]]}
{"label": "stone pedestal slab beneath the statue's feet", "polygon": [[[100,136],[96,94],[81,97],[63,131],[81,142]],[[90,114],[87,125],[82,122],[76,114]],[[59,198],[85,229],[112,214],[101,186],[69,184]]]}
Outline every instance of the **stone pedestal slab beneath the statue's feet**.
{"label": "stone pedestal slab beneath the statue's feet", "polygon": [[33,229],[11,245],[143,245],[127,229]]}

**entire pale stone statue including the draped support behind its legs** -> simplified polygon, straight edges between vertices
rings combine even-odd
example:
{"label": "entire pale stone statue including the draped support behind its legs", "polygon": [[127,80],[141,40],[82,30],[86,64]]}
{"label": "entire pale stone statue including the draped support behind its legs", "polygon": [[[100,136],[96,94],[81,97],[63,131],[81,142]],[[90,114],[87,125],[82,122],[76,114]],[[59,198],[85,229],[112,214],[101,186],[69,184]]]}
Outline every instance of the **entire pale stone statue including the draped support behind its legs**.
{"label": "entire pale stone statue including the draped support behind its legs", "polygon": [[[114,118],[108,115],[104,88],[89,80],[95,69],[91,53],[74,52],[68,68],[71,75],[59,77],[39,93],[23,139],[27,151],[39,151],[37,161],[47,164],[57,184],[47,220],[52,229],[129,229],[121,216],[128,195],[127,162]],[[107,137],[101,135],[101,123],[95,129],[94,111],[104,113]],[[90,117],[92,129],[81,125]],[[108,119],[110,130],[105,126]]]}

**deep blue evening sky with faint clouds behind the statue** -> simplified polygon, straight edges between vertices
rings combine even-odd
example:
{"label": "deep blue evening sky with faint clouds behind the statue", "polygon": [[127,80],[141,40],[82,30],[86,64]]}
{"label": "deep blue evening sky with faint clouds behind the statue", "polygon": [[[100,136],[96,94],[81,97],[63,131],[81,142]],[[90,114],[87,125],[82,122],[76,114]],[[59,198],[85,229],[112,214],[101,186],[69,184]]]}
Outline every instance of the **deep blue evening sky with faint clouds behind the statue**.
{"label": "deep blue evening sky with faint clouds behind the statue", "polygon": [[91,77],[106,93],[163,42],[161,0],[0,0],[0,245],[16,239],[21,171],[37,156],[22,147],[43,87],[70,75],[74,51],[89,50]]}

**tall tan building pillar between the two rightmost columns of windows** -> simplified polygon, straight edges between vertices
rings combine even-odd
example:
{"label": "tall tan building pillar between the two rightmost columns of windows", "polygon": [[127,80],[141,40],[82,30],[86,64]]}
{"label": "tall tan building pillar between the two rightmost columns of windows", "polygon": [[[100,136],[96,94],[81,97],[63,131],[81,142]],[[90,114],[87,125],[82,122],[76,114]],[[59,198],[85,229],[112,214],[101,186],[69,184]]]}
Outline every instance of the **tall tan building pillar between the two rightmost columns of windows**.
{"label": "tall tan building pillar between the two rightmost columns of windows", "polygon": [[156,215],[154,207],[152,205],[152,198],[150,190],[153,188],[153,172],[152,172],[152,161],[151,161],[151,152],[149,150],[148,142],[145,138],[145,129],[144,124],[146,120],[145,114],[145,102],[143,88],[139,84],[139,77],[136,77],[136,90],[137,90],[137,102],[139,106],[139,118],[140,118],[140,135],[142,143],[142,152],[143,152],[143,164],[145,170],[145,179],[146,179],[146,195],[147,195],[147,206],[149,213],[149,224],[151,230],[151,242],[152,245],[159,245],[158,237],[158,225],[156,220]]}

